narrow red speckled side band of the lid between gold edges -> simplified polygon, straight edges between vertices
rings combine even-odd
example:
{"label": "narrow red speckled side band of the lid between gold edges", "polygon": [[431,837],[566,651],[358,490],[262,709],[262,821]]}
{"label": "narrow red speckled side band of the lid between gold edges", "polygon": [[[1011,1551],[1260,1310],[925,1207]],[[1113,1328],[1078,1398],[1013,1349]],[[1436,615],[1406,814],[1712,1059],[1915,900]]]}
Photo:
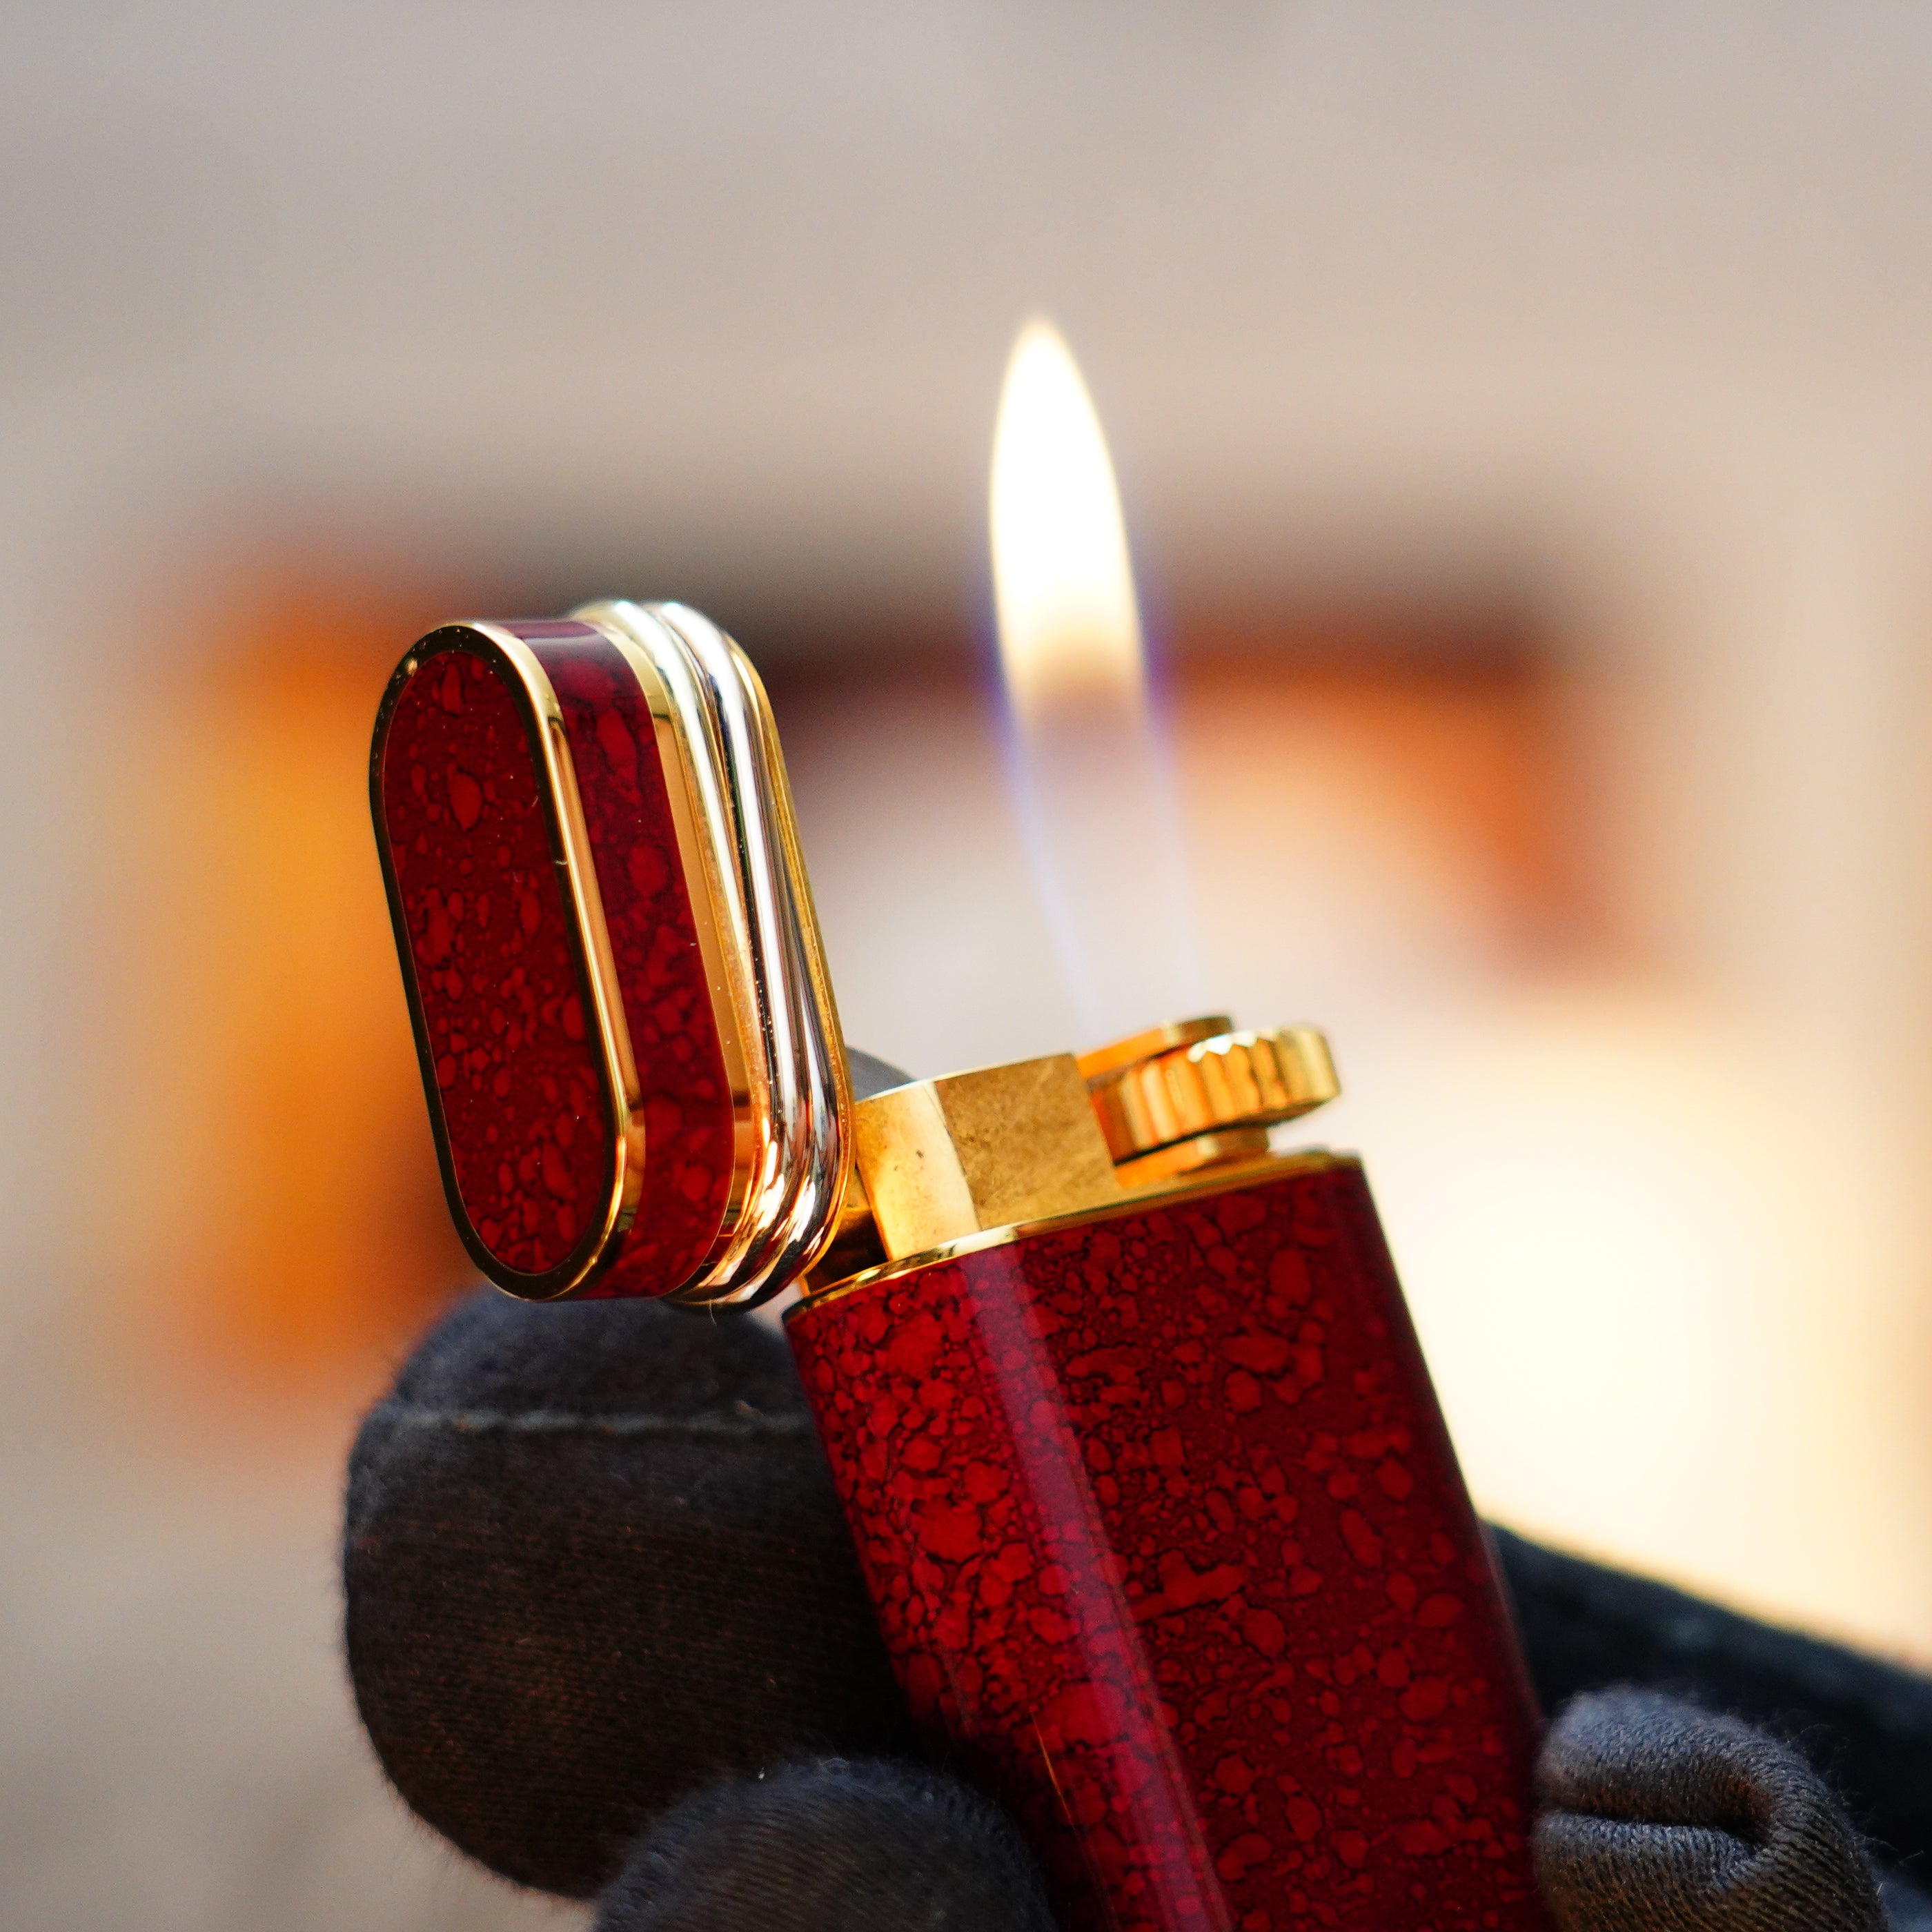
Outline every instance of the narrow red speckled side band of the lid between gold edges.
{"label": "narrow red speckled side band of the lid between gold edges", "polygon": [[593,1294],[665,1294],[711,1252],[732,1177],[732,1097],[657,728],[616,647],[587,624],[512,624],[556,692],[583,798],[643,1095],[643,1196]]}

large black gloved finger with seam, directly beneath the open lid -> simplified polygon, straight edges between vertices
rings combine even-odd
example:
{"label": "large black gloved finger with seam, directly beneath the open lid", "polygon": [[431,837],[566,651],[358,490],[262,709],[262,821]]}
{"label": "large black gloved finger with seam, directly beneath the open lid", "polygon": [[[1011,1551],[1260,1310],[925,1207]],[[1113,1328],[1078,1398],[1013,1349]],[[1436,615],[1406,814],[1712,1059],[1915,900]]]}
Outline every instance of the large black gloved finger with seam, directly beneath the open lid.
{"label": "large black gloved finger with seam, directly beneath the open lid", "polygon": [[342,1569],[388,1776],[520,1884],[589,1897],[719,1777],[908,1747],[790,1350],[744,1316],[464,1300],[363,1422]]}

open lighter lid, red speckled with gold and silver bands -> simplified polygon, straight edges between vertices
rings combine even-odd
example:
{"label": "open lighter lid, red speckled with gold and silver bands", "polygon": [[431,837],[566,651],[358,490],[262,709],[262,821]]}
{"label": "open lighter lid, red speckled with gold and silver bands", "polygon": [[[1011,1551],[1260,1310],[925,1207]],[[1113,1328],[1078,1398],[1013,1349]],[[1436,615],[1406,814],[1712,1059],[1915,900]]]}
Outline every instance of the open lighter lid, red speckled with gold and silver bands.
{"label": "open lighter lid, red speckled with gold and silver bands", "polygon": [[831,1238],[850,1092],[771,709],[696,611],[452,624],[371,804],[444,1192],[533,1298],[755,1302]]}

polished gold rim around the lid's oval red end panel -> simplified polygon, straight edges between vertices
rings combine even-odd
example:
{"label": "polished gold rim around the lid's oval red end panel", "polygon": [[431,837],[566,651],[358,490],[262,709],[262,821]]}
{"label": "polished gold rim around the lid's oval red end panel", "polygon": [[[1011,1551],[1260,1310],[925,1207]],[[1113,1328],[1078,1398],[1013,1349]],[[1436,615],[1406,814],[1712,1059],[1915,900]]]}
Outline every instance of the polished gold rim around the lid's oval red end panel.
{"label": "polished gold rim around the lid's oval red end panel", "polygon": [[[390,721],[404,690],[421,672],[423,665],[446,651],[466,651],[468,655],[485,659],[485,663],[500,663],[510,672],[514,688],[527,705],[524,728],[547,781],[543,786],[543,815],[553,848],[553,864],[560,867],[568,881],[566,904],[572,918],[566,922],[566,937],[572,960],[591,989],[591,1010],[597,1022],[599,1074],[612,1134],[611,1186],[603,1215],[585,1229],[556,1267],[541,1275],[504,1267],[483,1244],[483,1236],[469,1221],[469,1209],[456,1180],[456,1161],[448,1142],[448,1119],[442,1109],[442,1088],[437,1082],[435,1047],[427,1034],[421,985],[415,976],[415,945],[410,935],[408,914],[402,906],[394,854],[388,840],[388,815],[383,802],[383,761],[388,752]],[[643,1119],[636,1111],[638,1076],[630,1055],[622,1001],[614,997],[616,970],[611,958],[611,935],[603,918],[603,902],[595,889],[595,869],[587,866],[589,837],[583,827],[582,802],[578,800],[576,769],[562,738],[562,709],[556,701],[556,692],[551,688],[551,680],[520,639],[497,630],[489,622],[469,620],[442,624],[429,632],[429,636],[419,638],[404,653],[402,663],[390,674],[388,690],[384,690],[381,709],[377,711],[369,752],[369,802],[375,819],[377,854],[383,862],[383,885],[388,896],[390,923],[396,931],[396,951],[410,995],[410,1028],[415,1037],[417,1068],[423,1076],[423,1092],[429,1097],[437,1167],[442,1173],[442,1192],[450,1208],[450,1217],[456,1223],[456,1233],[469,1258],[506,1293],[526,1300],[558,1300],[583,1289],[609,1265],[612,1260],[611,1235],[628,1225],[638,1211],[643,1177]],[[589,881],[587,891],[585,881]]]}

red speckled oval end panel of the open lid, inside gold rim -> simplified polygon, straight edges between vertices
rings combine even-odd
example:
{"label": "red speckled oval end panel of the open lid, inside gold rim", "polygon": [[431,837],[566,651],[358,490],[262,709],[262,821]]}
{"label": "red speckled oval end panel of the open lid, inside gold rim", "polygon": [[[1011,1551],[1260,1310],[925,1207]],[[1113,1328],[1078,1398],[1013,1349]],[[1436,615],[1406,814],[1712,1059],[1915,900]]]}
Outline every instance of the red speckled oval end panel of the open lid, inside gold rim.
{"label": "red speckled oval end panel of the open lid, inside gold rim", "polygon": [[481,657],[423,661],[390,715],[383,815],[469,1225],[541,1275],[611,1188],[611,1115],[516,699]]}

